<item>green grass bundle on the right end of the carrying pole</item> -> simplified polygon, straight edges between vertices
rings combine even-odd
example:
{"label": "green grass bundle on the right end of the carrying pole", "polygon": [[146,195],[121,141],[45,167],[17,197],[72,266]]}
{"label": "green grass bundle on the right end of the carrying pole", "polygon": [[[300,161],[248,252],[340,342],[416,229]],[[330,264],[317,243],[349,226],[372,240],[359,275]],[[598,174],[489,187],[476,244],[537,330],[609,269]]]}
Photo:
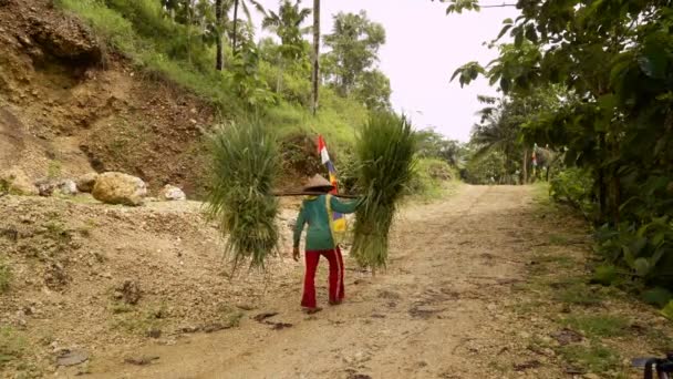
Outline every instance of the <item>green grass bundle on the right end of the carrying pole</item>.
{"label": "green grass bundle on the right end of the carrying pole", "polygon": [[355,214],[351,254],[363,267],[385,267],[389,233],[406,186],[413,177],[416,137],[404,116],[374,113],[355,144],[358,187],[364,201]]}

